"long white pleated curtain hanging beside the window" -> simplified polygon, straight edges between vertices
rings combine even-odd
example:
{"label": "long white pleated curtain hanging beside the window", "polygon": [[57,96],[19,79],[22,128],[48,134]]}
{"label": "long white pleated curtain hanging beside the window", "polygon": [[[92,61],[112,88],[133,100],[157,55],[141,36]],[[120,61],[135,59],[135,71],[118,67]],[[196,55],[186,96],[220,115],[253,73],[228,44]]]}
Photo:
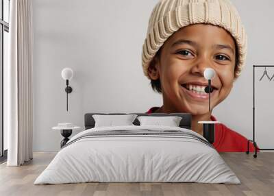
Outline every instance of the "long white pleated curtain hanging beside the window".
{"label": "long white pleated curtain hanging beside the window", "polygon": [[10,1],[7,68],[8,166],[32,159],[32,0]]}

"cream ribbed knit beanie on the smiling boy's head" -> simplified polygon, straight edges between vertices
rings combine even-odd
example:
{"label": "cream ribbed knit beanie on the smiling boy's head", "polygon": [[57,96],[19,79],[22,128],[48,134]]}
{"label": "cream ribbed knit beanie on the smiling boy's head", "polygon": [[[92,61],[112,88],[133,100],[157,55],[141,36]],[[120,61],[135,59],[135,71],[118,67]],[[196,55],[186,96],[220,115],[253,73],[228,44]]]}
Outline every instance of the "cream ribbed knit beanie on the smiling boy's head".
{"label": "cream ribbed knit beanie on the smiling boy's head", "polygon": [[218,25],[230,32],[238,47],[235,76],[240,75],[247,54],[247,35],[229,0],[160,0],[151,13],[142,46],[142,69],[149,79],[149,64],[164,42],[180,28],[197,23]]}

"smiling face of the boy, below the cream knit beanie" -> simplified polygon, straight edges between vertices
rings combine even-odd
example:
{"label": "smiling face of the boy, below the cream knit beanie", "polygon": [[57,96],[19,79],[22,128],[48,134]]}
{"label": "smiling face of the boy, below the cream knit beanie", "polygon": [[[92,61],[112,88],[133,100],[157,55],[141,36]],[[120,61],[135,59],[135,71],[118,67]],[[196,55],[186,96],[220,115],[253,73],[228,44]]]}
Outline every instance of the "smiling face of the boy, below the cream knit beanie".
{"label": "smiling face of the boy, below the cream knit beanie", "polygon": [[203,77],[206,68],[215,70],[211,108],[223,101],[233,86],[236,45],[221,27],[206,24],[179,29],[162,45],[160,60],[149,67],[152,79],[160,77],[164,106],[173,112],[206,114],[208,94]]}

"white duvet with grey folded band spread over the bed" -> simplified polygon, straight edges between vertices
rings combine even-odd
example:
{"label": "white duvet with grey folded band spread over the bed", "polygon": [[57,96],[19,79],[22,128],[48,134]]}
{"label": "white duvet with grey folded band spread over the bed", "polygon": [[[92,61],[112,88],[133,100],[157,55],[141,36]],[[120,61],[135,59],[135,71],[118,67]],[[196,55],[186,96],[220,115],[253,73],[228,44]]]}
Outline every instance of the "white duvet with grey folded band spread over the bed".
{"label": "white duvet with grey folded band spread over the bed", "polygon": [[[88,132],[179,130],[180,127],[97,127],[73,136],[34,184],[76,182],[201,182],[240,184],[218,152],[205,143],[180,136],[98,136]],[[204,138],[203,138],[204,139]],[[204,139],[205,140],[205,139]],[[74,141],[74,142],[73,142]]]}

